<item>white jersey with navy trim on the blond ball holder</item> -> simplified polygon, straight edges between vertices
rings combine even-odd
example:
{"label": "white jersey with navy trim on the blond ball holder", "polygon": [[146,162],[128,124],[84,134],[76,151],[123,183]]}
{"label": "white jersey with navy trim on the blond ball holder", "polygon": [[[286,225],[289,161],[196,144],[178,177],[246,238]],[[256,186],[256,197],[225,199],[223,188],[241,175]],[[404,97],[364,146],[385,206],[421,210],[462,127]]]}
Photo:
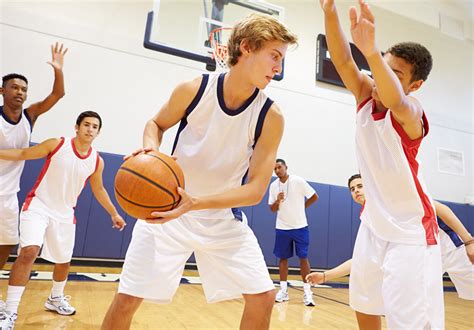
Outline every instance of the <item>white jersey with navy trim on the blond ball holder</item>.
{"label": "white jersey with navy trim on the blond ball holder", "polygon": [[[244,183],[265,115],[273,103],[255,89],[239,109],[228,109],[224,77],[203,75],[174,141],[173,155],[183,169],[185,190],[193,196],[219,194]],[[199,210],[188,215],[242,220],[238,209]]]}

